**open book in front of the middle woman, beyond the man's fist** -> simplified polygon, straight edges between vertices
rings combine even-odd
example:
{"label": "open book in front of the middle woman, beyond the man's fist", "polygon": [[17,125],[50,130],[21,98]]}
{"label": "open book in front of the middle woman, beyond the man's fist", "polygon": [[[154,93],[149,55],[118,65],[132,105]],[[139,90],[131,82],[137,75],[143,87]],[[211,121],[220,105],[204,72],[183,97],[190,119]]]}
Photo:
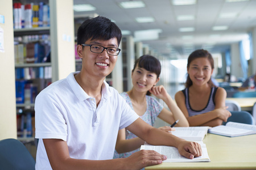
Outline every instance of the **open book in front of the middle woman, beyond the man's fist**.
{"label": "open book in front of the middle woman, beyond the man's fist", "polygon": [[187,141],[203,141],[209,128],[209,126],[175,127],[175,131],[171,131],[171,133]]}

